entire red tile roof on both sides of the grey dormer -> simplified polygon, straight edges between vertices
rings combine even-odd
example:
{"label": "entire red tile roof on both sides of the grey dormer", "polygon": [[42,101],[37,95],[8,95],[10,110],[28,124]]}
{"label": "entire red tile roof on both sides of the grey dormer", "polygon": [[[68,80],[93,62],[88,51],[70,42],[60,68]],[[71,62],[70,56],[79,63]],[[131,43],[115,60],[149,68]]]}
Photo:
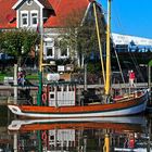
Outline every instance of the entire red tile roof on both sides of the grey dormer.
{"label": "entire red tile roof on both sides of the grey dormer", "polygon": [[[0,28],[16,27],[16,12],[12,10],[17,0],[0,0]],[[65,22],[67,17],[80,23],[90,0],[39,0],[39,2],[45,3],[47,9],[52,5],[55,12],[55,15],[47,20],[45,27],[63,27],[67,24]]]}

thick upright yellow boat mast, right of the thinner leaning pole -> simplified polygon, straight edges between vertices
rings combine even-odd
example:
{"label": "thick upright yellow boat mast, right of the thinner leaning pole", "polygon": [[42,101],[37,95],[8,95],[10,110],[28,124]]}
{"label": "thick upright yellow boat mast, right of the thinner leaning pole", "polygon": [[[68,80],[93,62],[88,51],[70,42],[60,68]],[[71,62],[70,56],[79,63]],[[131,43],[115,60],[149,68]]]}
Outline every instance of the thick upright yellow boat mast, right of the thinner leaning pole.
{"label": "thick upright yellow boat mast, right of the thinner leaning pole", "polygon": [[106,25],[106,79],[105,94],[110,96],[111,88],[111,0],[107,0],[107,25]]}

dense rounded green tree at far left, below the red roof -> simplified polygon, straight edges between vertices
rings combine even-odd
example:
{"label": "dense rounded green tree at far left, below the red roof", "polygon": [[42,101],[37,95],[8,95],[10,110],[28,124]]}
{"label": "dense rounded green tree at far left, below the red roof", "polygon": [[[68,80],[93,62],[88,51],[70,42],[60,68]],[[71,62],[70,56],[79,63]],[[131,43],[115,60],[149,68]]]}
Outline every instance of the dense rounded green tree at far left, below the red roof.
{"label": "dense rounded green tree at far left, below the red roof", "polygon": [[39,35],[35,30],[13,29],[0,34],[0,48],[4,53],[13,55],[18,66],[31,48],[39,43]]}

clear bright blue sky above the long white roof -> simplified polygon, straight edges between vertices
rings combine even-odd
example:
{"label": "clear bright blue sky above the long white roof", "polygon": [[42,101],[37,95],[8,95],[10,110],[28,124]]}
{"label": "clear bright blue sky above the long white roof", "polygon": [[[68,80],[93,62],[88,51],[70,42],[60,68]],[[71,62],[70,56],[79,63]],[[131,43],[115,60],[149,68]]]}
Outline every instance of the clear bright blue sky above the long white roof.
{"label": "clear bright blue sky above the long white roof", "polygon": [[[98,0],[107,12],[107,0]],[[152,0],[112,0],[112,33],[152,39]]]}

